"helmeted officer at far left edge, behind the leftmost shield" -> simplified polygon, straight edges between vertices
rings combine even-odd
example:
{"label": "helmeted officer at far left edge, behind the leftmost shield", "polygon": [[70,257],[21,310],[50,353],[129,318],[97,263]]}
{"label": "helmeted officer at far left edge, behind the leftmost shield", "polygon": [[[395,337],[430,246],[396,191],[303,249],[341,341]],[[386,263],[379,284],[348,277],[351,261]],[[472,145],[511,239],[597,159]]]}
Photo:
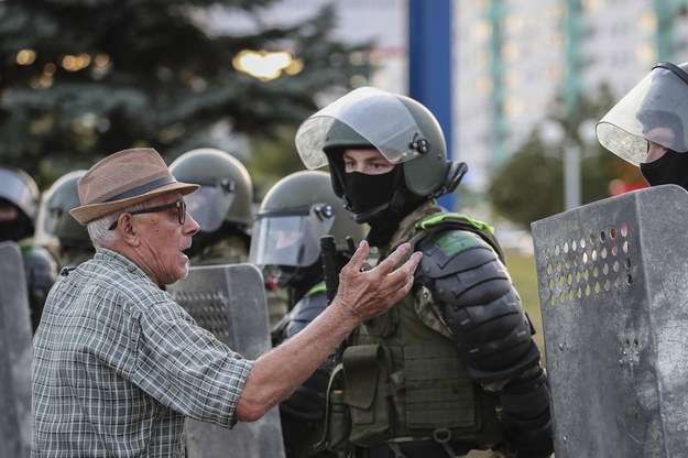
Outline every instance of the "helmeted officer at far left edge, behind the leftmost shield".
{"label": "helmeted officer at far left edge, behind the leftmost shield", "polygon": [[0,241],[14,241],[22,251],[33,330],[39,326],[45,297],[57,276],[53,257],[33,242],[39,198],[39,187],[29,174],[0,166]]}

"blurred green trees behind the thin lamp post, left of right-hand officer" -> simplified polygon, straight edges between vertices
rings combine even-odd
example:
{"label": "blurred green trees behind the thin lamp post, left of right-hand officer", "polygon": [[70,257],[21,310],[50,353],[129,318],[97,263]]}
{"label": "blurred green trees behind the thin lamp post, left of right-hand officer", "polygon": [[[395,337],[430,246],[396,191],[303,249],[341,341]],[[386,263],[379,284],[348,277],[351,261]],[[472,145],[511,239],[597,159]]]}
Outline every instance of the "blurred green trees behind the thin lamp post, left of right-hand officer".
{"label": "blurred green trees behind the thin lamp post, left of right-hand officer", "polygon": [[[561,105],[557,102],[558,107]],[[604,150],[597,140],[587,144],[580,137],[581,123],[601,119],[612,105],[611,91],[602,86],[598,94],[579,99],[576,109],[555,110],[548,119],[561,128],[564,138],[554,146],[545,144],[542,126],[537,126],[494,174],[488,192],[494,210],[524,227],[564,211],[566,142],[572,142],[583,152],[580,164],[582,204],[609,197],[612,179],[642,182],[636,167]]]}

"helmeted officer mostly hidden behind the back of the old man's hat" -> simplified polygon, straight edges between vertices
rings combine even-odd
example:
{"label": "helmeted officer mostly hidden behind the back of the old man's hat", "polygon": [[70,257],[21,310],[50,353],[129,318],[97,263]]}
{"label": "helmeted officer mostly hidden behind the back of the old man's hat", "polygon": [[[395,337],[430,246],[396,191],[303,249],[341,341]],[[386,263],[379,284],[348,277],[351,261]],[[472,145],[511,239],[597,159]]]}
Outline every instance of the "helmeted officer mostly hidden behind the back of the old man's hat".
{"label": "helmeted officer mostly hidden behind the back of the old man's hat", "polygon": [[69,215],[80,205],[77,182],[85,173],[74,171],[61,176],[41,197],[35,244],[53,254],[58,270],[75,268],[96,252],[86,228]]}

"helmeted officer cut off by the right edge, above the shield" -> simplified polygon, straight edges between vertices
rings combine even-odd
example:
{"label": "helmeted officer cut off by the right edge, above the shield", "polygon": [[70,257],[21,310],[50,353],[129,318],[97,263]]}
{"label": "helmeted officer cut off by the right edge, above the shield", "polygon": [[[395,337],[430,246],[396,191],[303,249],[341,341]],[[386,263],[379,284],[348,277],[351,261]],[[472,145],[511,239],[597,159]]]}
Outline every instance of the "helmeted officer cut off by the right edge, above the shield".
{"label": "helmeted officer cut off by the right edge, above the shield", "polygon": [[688,189],[688,62],[655,65],[598,123],[602,146],[640,167],[651,186]]}

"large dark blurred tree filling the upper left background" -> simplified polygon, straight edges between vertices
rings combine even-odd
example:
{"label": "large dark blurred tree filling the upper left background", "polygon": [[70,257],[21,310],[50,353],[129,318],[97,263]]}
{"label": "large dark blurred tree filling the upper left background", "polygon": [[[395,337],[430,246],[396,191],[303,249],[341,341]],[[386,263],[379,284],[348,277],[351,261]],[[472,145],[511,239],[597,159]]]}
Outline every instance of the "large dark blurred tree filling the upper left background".
{"label": "large dark blurred tree filling the upper left background", "polygon": [[[103,154],[156,148],[168,161],[219,146],[214,132],[276,140],[315,97],[365,80],[370,43],[331,39],[334,3],[282,29],[260,26],[277,0],[0,1],[0,162],[44,187]],[[212,32],[214,12],[254,17],[256,32]],[[237,70],[242,50],[291,51],[298,74],[265,81]],[[352,62],[356,62],[353,64]]]}

